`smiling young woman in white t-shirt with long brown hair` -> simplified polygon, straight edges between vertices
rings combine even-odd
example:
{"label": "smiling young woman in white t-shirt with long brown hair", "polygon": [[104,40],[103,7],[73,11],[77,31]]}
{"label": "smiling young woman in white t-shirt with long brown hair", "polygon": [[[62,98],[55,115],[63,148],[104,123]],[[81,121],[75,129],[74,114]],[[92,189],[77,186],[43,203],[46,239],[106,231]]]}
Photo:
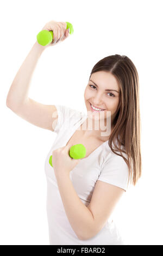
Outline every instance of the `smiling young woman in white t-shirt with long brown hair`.
{"label": "smiling young woman in white t-shirt with long brown hair", "polygon": [[[50,21],[43,29],[55,38],[48,46],[35,42],[12,82],[7,106],[57,133],[45,161],[50,244],[124,245],[112,212],[129,182],[136,185],[141,177],[139,76],[127,56],[115,54],[91,71],[84,92],[86,114],[38,103],[28,96],[37,60],[45,48],[68,36],[65,22]],[[86,156],[71,159],[71,146],[80,143]]]}

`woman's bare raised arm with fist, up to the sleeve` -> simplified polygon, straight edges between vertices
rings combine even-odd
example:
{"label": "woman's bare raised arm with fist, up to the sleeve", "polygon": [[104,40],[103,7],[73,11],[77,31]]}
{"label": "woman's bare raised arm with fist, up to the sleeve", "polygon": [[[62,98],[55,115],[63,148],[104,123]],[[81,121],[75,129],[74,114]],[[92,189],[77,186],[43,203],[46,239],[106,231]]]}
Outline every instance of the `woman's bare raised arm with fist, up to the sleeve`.
{"label": "woman's bare raised arm with fist, up to the sleeve", "polygon": [[[47,27],[51,27],[51,29],[47,29]],[[65,22],[51,21],[43,29],[53,30],[53,35],[55,34],[57,40],[63,38],[64,34],[65,38],[68,36]],[[65,38],[61,41],[64,41]],[[37,61],[45,48],[45,46],[41,46],[37,41],[35,42],[11,84],[6,103],[14,113],[29,121],[29,123],[53,131],[55,128],[54,120],[56,124],[58,118],[56,107],[36,102],[28,96],[30,80]]]}

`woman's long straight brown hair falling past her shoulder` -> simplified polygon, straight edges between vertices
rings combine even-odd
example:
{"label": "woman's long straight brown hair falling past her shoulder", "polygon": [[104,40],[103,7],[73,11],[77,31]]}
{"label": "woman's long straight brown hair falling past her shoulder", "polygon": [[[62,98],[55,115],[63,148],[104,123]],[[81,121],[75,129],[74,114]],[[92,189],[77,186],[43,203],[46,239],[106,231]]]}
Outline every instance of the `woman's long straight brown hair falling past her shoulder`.
{"label": "woman's long straight brown hair falling past her shoulder", "polygon": [[[98,71],[110,72],[115,76],[120,87],[120,101],[112,123],[114,129],[109,136],[109,147],[112,152],[122,156],[126,161],[129,169],[128,183],[130,180],[135,186],[142,171],[139,76],[133,62],[127,56],[119,54],[99,60],[93,66],[91,75]],[[115,148],[112,148],[112,143]],[[116,151],[120,154],[117,154]],[[127,159],[122,153],[127,155]]]}

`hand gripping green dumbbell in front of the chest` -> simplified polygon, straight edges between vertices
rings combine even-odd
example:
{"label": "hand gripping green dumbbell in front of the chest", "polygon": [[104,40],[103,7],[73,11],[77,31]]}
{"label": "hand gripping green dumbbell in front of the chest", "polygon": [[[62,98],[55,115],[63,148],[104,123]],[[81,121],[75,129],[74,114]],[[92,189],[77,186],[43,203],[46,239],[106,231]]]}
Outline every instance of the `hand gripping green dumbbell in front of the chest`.
{"label": "hand gripping green dumbbell in front of the chest", "polygon": [[55,174],[68,173],[79,163],[80,159],[72,159],[69,155],[70,146],[55,149],[52,152],[52,165]]}

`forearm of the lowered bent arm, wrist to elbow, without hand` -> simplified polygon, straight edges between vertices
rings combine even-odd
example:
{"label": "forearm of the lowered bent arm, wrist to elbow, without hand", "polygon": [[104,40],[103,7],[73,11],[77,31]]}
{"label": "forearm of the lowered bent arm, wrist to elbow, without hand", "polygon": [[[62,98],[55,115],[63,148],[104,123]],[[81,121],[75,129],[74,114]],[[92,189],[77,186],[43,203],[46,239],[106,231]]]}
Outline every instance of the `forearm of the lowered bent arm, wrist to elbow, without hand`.
{"label": "forearm of the lowered bent arm, wrist to elbow, without hand", "polygon": [[84,240],[85,237],[91,236],[93,233],[93,215],[78,197],[70,175],[67,172],[58,172],[56,178],[68,221],[78,239]]}

